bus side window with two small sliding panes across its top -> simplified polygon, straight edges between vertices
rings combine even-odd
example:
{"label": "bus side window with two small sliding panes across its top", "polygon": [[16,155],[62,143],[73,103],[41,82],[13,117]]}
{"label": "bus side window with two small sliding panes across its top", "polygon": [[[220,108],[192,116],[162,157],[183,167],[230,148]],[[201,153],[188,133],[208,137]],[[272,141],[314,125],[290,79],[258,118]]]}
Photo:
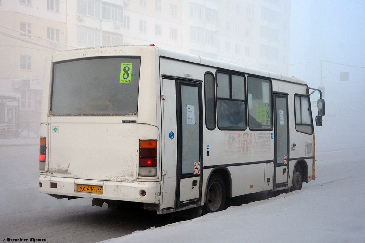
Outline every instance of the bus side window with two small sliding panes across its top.
{"label": "bus side window with two small sliding panes across its top", "polygon": [[246,129],[245,77],[217,73],[218,128]]}

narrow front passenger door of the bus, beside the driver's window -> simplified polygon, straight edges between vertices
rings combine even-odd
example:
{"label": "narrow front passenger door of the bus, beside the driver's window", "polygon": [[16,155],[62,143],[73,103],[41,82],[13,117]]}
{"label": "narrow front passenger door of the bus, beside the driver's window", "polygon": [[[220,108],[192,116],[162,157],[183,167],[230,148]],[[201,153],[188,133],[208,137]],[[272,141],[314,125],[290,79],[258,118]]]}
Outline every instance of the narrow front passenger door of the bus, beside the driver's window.
{"label": "narrow front passenger door of the bus, beside the driver's window", "polygon": [[273,189],[286,189],[289,169],[288,94],[274,93],[274,184]]}

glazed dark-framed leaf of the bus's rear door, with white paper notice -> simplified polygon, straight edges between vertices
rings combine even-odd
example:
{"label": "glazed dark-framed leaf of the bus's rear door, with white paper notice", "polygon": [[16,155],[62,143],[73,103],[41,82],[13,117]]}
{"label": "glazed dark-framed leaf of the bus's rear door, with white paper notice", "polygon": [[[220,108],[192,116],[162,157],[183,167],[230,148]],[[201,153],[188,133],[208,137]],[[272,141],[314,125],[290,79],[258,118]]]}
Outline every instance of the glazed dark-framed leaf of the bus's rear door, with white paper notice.
{"label": "glazed dark-framed leaf of the bus's rear door, with white paper notice", "polygon": [[177,81],[176,208],[200,203],[202,114],[201,83]]}

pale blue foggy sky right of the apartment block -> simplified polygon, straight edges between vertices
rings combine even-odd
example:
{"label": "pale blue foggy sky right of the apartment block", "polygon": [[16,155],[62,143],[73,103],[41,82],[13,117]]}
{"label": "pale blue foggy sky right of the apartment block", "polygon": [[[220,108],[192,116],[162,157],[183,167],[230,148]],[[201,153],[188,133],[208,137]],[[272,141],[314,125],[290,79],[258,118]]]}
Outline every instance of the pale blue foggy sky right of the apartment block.
{"label": "pale blue foggy sky right of the apartment block", "polygon": [[[326,115],[316,148],[364,147],[365,1],[291,2],[289,75],[325,87]],[[349,72],[340,81],[340,72]],[[316,98],[315,92],[311,99]],[[314,114],[315,114],[315,110]]]}

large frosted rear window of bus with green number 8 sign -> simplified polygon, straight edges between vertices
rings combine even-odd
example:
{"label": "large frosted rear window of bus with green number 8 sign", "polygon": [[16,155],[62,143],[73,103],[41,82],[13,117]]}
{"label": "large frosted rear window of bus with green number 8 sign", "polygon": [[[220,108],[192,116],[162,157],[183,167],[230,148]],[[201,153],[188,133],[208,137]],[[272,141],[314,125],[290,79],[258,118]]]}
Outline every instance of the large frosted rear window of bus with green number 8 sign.
{"label": "large frosted rear window of bus with green number 8 sign", "polygon": [[53,115],[137,113],[141,58],[95,58],[54,64]]}

